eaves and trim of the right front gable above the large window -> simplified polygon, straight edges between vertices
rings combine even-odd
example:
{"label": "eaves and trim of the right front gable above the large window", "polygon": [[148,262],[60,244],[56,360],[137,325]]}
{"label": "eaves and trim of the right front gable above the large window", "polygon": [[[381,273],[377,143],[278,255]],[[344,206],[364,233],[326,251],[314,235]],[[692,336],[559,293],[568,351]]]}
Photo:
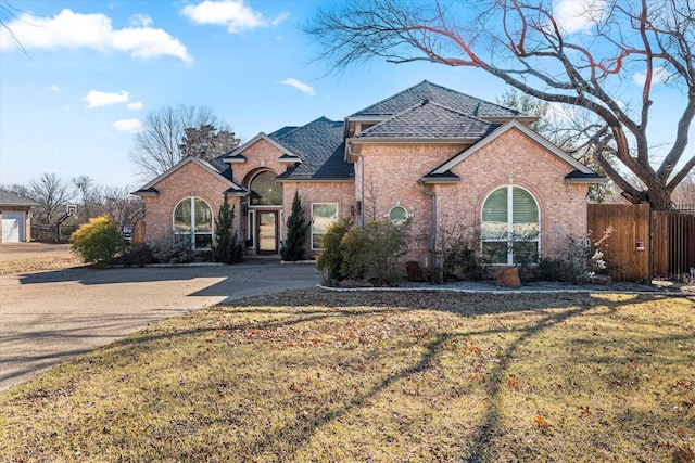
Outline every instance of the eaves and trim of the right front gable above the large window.
{"label": "eaves and trim of the right front gable above the large window", "polygon": [[[552,154],[554,154],[555,156],[559,157],[561,160],[567,163],[570,167],[573,167],[574,170],[572,172],[568,173],[568,176],[566,177],[566,181],[568,179],[577,179],[577,180],[581,179],[581,180],[583,180],[585,182],[589,182],[589,183],[601,183],[601,182],[604,182],[606,180],[604,177],[598,176],[592,169],[590,169],[589,167],[584,166],[582,163],[580,163],[579,160],[574,159],[572,156],[570,156],[569,154],[565,153],[563,150],[560,150],[559,147],[555,146],[553,143],[551,143],[549,141],[545,140],[543,137],[541,137],[540,134],[538,134],[536,132],[531,130],[529,127],[527,127],[526,125],[519,123],[516,119],[513,119],[509,123],[501,126],[495,131],[493,131],[489,137],[485,137],[481,141],[479,141],[478,143],[472,145],[471,147],[458,153],[457,155],[455,155],[454,157],[452,157],[451,159],[448,159],[447,162],[445,162],[441,166],[437,167],[434,170],[432,170],[430,173],[428,173],[421,180],[427,181],[427,179],[437,178],[437,177],[441,177],[441,176],[445,176],[447,173],[451,173],[451,169],[454,166],[456,166],[457,164],[459,164],[460,162],[463,162],[467,157],[472,156],[473,154],[476,154],[477,152],[482,150],[484,146],[486,146],[488,144],[492,143],[494,140],[500,138],[503,133],[506,133],[506,132],[508,132],[509,130],[513,130],[513,129],[521,131],[523,134],[529,137],[535,143],[540,144],[545,150],[549,151]],[[570,181],[568,181],[568,182],[570,182]]]}

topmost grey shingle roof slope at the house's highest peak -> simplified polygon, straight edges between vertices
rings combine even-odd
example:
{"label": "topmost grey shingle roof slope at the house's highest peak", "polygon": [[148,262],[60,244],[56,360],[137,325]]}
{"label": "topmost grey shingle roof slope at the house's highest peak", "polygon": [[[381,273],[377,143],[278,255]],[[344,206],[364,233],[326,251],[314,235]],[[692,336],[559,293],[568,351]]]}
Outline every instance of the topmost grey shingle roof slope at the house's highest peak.
{"label": "topmost grey shingle roof slope at the house's highest peak", "polygon": [[422,80],[420,83],[375,103],[371,106],[367,106],[350,117],[393,116],[415,106],[424,100],[441,104],[445,107],[451,107],[463,114],[479,117],[481,119],[523,116],[522,113],[519,113],[516,110],[490,103],[445,87],[440,87],[427,80]]}

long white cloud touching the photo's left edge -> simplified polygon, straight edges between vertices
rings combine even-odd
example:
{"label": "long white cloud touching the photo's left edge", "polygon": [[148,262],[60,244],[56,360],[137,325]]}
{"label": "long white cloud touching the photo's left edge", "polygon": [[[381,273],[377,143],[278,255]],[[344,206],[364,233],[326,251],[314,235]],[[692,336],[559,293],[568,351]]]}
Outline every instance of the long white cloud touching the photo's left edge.
{"label": "long white cloud touching the photo's left edge", "polygon": [[130,53],[132,57],[174,56],[192,62],[186,47],[163,29],[148,27],[152,20],[138,15],[140,26],[114,29],[111,18],[104,14],[80,14],[63,10],[53,17],[23,13],[0,28],[0,51],[18,44],[10,36],[12,30],[25,50],[60,50],[86,48],[100,52],[115,50]]}

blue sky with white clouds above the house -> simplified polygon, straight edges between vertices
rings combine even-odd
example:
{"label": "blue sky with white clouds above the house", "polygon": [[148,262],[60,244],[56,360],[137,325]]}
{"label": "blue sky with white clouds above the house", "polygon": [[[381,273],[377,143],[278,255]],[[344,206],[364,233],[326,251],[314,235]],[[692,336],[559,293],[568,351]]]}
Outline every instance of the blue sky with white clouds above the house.
{"label": "blue sky with white clouds above the house", "polygon": [[[342,120],[425,79],[488,101],[507,90],[481,70],[428,63],[375,60],[331,74],[299,28],[330,1],[0,2],[15,9],[0,18],[22,44],[0,30],[5,185],[54,172],[137,189],[150,179],[130,160],[134,133],[166,106],[207,106],[243,141],[321,116]],[[667,124],[661,102],[655,119]]]}

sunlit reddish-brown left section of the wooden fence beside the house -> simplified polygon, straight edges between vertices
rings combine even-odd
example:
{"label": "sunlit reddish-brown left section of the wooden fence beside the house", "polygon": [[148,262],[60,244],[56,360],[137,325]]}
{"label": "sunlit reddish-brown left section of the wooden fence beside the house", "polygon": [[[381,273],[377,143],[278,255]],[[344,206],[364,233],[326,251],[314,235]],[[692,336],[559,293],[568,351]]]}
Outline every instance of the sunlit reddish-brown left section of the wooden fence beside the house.
{"label": "sunlit reddish-brown left section of the wooden fence beside the house", "polygon": [[[649,279],[649,205],[590,204],[592,240],[609,227],[614,232],[606,240],[606,260],[617,266],[610,275],[622,281]],[[637,242],[644,243],[644,250],[637,250]]]}

